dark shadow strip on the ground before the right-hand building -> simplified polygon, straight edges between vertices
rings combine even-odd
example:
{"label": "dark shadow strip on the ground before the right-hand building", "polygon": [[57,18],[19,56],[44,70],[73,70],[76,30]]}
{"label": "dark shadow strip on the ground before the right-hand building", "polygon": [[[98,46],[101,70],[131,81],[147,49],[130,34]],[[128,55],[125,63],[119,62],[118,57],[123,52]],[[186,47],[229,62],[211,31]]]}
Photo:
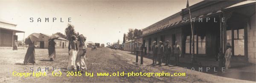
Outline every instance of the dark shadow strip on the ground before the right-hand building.
{"label": "dark shadow strip on the ground before the right-hand building", "polygon": [[[128,54],[136,56],[135,53],[128,53]],[[152,59],[153,57],[150,56],[150,55],[144,55],[143,58]],[[159,65],[150,64],[150,65],[147,65],[147,66],[159,66]],[[164,66],[164,64],[162,64],[161,66]],[[159,67],[161,67],[161,66],[159,66]],[[170,68],[170,69],[176,68],[174,66],[175,66],[175,61],[171,61],[171,64],[170,64],[169,67],[172,67],[172,68]],[[193,64],[192,65],[190,63],[183,63],[183,62],[179,62],[178,66],[186,68],[187,71],[204,72],[204,73],[207,73],[207,74],[217,75],[217,76],[221,76],[221,77],[228,77],[228,78],[240,79],[240,80],[256,81],[256,73],[255,73],[256,68],[255,68],[255,65],[253,65],[253,64],[247,64],[247,65],[243,65],[243,66],[234,66],[234,67],[231,66],[231,68],[228,69],[228,70],[221,69],[221,68],[218,68],[216,66],[201,66],[200,64],[199,65],[198,64]],[[250,71],[246,71],[245,69],[246,70],[249,69]],[[252,70],[253,70],[253,72],[252,72]]]}

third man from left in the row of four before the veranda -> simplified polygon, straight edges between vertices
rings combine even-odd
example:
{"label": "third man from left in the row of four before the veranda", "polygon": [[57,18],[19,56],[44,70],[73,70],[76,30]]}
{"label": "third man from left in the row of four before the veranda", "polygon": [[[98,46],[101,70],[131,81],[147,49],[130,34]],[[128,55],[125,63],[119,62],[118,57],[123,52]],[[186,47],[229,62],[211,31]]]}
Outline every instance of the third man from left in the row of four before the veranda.
{"label": "third man from left in the row of four before the veranda", "polygon": [[172,52],[172,46],[169,45],[169,41],[166,41],[166,45],[164,46],[164,55],[166,58],[167,63],[165,64],[166,66],[170,64],[170,56]]}

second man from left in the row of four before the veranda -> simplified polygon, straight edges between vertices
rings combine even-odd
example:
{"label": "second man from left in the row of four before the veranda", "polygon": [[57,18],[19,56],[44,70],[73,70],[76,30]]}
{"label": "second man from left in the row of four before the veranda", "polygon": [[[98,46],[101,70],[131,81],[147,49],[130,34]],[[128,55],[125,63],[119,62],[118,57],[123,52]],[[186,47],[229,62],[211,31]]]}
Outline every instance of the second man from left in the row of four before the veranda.
{"label": "second man from left in the row of four before the veranda", "polygon": [[159,42],[160,44],[159,44],[159,46],[158,46],[158,51],[157,51],[157,58],[158,58],[158,65],[161,65],[162,64],[162,57],[163,57],[163,50],[164,50],[164,48],[163,48],[163,42],[162,41],[160,41]]}

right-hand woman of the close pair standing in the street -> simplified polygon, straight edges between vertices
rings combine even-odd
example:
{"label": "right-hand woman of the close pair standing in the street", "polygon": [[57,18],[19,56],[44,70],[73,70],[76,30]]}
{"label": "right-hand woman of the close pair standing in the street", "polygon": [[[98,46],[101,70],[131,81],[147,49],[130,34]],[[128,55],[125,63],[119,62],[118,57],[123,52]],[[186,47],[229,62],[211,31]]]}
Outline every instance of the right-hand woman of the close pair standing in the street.
{"label": "right-hand woman of the close pair standing in the street", "polygon": [[87,46],[84,43],[85,42],[85,37],[81,34],[78,36],[78,41],[76,41],[77,44],[77,58],[76,58],[76,69],[77,71],[81,71],[83,73],[83,71],[87,70],[87,66],[86,66],[86,50],[87,50]]}

